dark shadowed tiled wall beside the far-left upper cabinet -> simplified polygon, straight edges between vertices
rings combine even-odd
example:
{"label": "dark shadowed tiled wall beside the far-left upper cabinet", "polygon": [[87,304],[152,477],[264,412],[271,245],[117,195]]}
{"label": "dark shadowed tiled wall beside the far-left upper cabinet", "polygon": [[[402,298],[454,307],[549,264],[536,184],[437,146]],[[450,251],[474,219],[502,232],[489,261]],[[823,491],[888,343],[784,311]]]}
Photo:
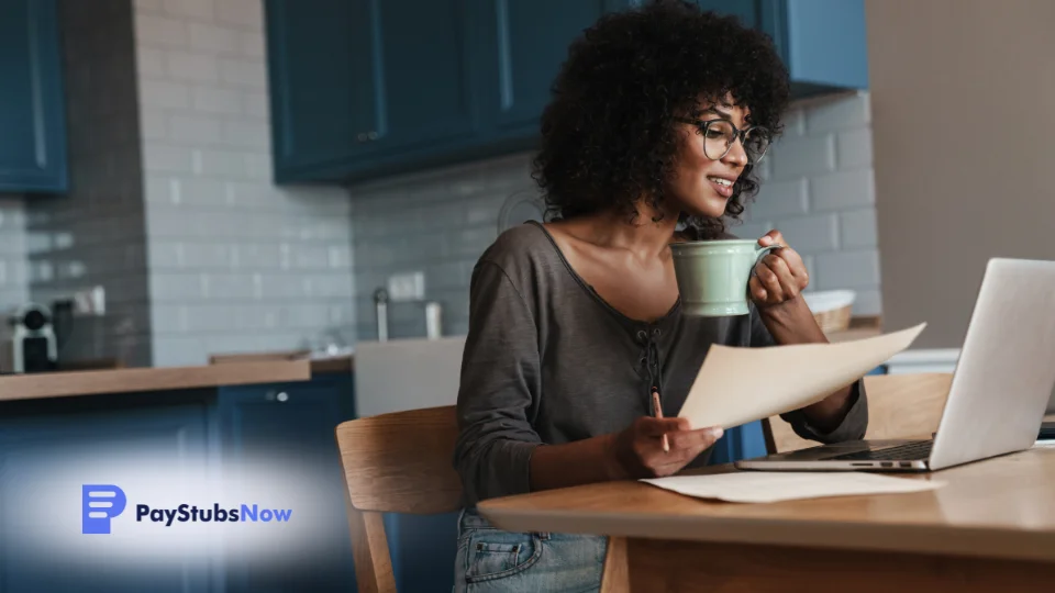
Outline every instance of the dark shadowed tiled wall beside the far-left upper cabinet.
{"label": "dark shadowed tiled wall beside the far-left upper cabinet", "polygon": [[26,198],[32,298],[101,286],[103,317],[74,324],[68,359],[149,365],[142,167],[127,0],[59,3],[70,191]]}

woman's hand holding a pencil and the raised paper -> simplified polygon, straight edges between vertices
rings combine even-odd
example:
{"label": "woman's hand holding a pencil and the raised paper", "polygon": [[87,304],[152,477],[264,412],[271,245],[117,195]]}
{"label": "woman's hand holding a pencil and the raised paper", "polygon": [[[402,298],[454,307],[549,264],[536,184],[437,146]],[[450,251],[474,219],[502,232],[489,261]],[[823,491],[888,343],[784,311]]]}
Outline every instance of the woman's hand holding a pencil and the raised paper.
{"label": "woman's hand holding a pencil and the raised paper", "polygon": [[[663,450],[663,435],[669,450]],[[612,461],[621,479],[676,473],[722,437],[721,427],[690,429],[686,418],[642,416],[614,435]]]}

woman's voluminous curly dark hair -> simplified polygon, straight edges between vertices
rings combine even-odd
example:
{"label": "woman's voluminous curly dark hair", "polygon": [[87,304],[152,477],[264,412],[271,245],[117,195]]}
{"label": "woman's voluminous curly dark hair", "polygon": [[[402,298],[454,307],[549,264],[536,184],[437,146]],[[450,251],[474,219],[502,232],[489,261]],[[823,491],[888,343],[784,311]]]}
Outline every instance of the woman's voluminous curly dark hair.
{"label": "woman's voluminous curly dark hair", "polygon": [[[612,208],[632,217],[635,202],[664,199],[675,175],[675,118],[699,108],[699,97],[726,94],[746,107],[749,123],[782,131],[787,69],[771,40],[733,16],[695,4],[658,0],[604,15],[576,40],[542,115],[542,145],[533,177],[547,217],[570,219]],[[733,186],[725,219],[738,220],[758,191],[747,165]],[[682,214],[690,238],[725,232],[723,219]]]}

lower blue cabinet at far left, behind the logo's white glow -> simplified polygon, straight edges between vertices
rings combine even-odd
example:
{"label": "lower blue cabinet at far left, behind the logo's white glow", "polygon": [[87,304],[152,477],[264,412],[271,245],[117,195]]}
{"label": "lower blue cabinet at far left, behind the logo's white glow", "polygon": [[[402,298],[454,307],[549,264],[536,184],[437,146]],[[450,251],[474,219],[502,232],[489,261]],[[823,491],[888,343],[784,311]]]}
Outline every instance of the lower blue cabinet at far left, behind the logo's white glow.
{"label": "lower blue cabinet at far left, behind the logo's white glow", "polygon": [[[165,495],[151,486],[152,473],[208,467],[210,394],[0,404],[0,592],[215,591],[216,564],[121,537],[133,504]],[[113,484],[127,496],[110,535],[81,534],[85,483]]]}

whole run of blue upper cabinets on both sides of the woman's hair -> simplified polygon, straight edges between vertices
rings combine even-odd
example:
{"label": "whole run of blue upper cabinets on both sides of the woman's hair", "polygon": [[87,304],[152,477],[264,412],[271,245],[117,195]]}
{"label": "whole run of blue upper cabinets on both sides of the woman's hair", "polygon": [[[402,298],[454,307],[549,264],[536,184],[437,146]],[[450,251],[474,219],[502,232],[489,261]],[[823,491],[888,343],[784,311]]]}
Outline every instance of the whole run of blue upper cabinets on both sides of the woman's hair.
{"label": "whole run of blue upper cabinets on both sides of the woman's hair", "polygon": [[[774,38],[792,98],[867,87],[864,0],[697,1]],[[570,42],[641,3],[267,0],[275,179],[345,183],[531,148]]]}

